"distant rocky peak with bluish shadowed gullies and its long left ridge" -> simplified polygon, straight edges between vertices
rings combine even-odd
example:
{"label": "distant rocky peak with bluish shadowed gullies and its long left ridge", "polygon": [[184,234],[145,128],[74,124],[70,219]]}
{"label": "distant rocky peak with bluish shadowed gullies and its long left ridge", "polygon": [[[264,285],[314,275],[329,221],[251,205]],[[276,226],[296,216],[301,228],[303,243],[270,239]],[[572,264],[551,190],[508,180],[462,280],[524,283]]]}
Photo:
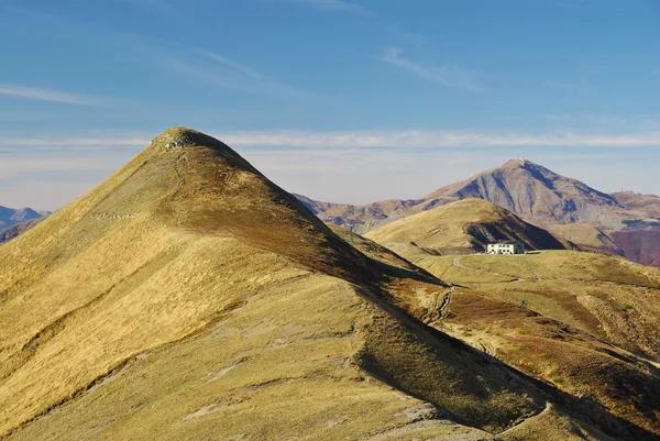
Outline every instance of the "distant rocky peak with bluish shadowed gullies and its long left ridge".
{"label": "distant rocky peak with bluish shadowed gullies and its long left ridge", "polygon": [[336,224],[358,223],[363,225],[361,231],[364,232],[410,213],[466,198],[496,203],[537,225],[580,222],[598,228],[624,227],[622,212],[625,208],[613,196],[527,159],[508,161],[501,167],[414,200],[365,206],[323,203],[307,198],[304,201],[323,221]]}

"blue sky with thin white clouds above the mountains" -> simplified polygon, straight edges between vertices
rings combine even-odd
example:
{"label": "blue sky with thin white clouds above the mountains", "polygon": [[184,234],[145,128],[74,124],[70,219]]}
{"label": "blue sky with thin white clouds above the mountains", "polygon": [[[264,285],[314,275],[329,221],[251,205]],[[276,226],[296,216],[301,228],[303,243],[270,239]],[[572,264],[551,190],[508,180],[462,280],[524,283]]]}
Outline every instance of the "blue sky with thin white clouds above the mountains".
{"label": "blue sky with thin white clouds above the mountains", "polygon": [[416,198],[526,157],[660,195],[658,0],[0,0],[0,206],[168,126],[292,192]]}

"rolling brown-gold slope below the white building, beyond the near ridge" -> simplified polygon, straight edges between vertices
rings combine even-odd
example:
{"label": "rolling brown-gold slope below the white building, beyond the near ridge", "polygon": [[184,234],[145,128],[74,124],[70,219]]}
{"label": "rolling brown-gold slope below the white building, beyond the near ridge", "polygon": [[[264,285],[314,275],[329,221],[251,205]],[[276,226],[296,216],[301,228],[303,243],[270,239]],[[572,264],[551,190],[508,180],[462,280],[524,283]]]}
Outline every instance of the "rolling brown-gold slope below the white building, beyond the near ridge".
{"label": "rolling brown-gold slope below the white building, beyond the near ridge", "polygon": [[660,272],[596,253],[395,251],[461,286],[431,324],[660,433]]}

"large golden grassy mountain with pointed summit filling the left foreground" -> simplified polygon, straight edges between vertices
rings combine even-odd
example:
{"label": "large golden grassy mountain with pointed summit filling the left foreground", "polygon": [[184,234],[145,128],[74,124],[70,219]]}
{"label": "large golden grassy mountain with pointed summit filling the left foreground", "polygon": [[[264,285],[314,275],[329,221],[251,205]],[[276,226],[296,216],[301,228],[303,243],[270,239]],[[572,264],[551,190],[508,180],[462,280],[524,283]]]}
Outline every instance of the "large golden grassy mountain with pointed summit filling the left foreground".
{"label": "large golden grassy mountain with pointed summit filling the left foreground", "polygon": [[[443,331],[486,311],[565,388]],[[330,229],[189,129],[0,247],[0,322],[3,440],[660,434],[651,362]]]}

